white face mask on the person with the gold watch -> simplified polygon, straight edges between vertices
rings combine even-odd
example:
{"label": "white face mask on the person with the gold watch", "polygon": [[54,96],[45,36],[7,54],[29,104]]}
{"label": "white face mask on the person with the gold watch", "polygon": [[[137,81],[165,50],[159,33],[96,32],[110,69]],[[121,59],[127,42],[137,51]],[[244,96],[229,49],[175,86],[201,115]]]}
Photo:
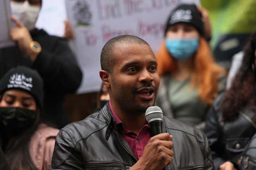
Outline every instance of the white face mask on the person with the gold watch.
{"label": "white face mask on the person with the gold watch", "polygon": [[39,15],[40,7],[25,2],[13,2],[11,1],[12,15],[28,29],[35,28],[37,17]]}

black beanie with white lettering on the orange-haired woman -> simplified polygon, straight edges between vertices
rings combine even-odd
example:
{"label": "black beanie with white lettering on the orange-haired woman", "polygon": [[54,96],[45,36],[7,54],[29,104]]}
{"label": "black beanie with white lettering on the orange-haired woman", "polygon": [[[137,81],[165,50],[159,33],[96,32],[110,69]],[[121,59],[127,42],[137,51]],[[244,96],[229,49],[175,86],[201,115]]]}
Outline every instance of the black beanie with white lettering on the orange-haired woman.
{"label": "black beanie with white lettering on the orange-haired woman", "polygon": [[200,11],[198,11],[196,5],[194,4],[181,4],[171,11],[171,14],[169,15],[166,22],[164,36],[166,36],[166,32],[169,26],[176,23],[189,23],[198,30],[199,34],[204,36],[204,23],[202,21],[202,14]]}

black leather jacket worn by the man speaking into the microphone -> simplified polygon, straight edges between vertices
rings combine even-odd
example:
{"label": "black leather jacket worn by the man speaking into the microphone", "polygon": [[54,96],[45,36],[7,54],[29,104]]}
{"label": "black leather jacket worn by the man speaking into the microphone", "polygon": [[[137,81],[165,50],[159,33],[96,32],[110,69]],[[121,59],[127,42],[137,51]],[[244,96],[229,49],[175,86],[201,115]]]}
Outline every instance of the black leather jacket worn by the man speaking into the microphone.
{"label": "black leather jacket worn by the man speaking into the microphone", "polygon": [[[137,162],[117,131],[106,104],[98,113],[62,128],[56,138],[50,170],[125,170]],[[173,135],[173,161],[167,169],[213,170],[204,133],[164,118],[163,132]]]}

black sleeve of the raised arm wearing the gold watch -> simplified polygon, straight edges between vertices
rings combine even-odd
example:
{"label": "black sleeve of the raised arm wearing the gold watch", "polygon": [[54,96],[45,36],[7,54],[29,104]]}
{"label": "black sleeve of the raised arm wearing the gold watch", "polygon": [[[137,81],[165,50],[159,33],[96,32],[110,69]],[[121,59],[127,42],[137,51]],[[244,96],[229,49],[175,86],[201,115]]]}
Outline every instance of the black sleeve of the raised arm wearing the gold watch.
{"label": "black sleeve of the raised arm wearing the gold watch", "polygon": [[82,72],[74,54],[64,38],[56,38],[49,43],[53,43],[52,47],[42,46],[33,68],[42,76],[46,89],[56,93],[75,92],[81,83]]}

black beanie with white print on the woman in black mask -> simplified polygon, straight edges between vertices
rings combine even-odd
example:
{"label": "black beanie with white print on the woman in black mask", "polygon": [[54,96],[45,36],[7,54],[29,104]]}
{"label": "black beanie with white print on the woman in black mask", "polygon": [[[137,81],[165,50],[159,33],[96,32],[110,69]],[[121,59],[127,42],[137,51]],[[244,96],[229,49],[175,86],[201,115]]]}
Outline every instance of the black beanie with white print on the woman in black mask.
{"label": "black beanie with white print on the woman in black mask", "polygon": [[0,80],[0,95],[11,89],[19,89],[31,94],[40,109],[43,107],[43,81],[36,70],[17,66],[9,70]]}

